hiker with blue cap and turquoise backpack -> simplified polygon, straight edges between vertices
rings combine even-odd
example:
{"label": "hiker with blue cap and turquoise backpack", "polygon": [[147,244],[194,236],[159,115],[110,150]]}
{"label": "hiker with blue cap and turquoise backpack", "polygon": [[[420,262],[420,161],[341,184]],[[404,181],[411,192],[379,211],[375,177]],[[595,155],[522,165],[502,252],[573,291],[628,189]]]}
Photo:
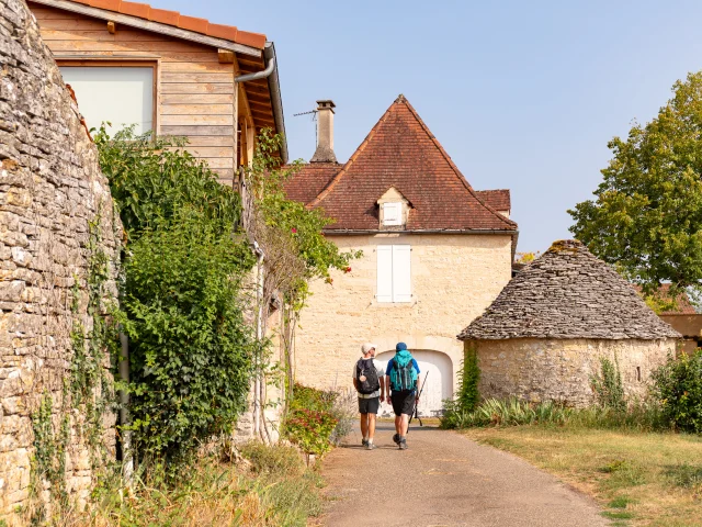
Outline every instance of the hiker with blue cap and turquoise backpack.
{"label": "hiker with blue cap and turquoise backpack", "polygon": [[[395,357],[387,363],[385,370],[385,399],[392,401],[395,412],[395,435],[393,441],[400,450],[407,449],[407,427],[409,416],[415,412],[415,405],[419,404],[419,366],[414,359],[405,343],[397,343]],[[390,395],[390,389],[393,393]]]}

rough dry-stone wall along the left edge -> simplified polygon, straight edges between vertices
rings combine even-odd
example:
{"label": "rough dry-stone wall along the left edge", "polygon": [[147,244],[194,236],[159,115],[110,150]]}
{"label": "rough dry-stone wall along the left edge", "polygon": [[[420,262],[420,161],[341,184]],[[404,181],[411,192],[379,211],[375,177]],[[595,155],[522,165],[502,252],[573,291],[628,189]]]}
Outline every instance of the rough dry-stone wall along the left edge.
{"label": "rough dry-stone wall along the left edge", "polygon": [[[98,225],[93,243],[102,238],[92,248],[89,222]],[[114,222],[97,149],[36,21],[24,0],[0,0],[0,518],[11,523],[30,497],[32,413],[47,396],[58,435],[71,328],[92,328],[88,266],[95,253],[117,261]],[[114,296],[112,265],[107,274]],[[65,487],[81,503],[94,474],[76,426],[80,408],[69,410]],[[103,440],[112,452],[113,425],[106,416]],[[39,482],[37,493],[47,498],[48,483]]]}

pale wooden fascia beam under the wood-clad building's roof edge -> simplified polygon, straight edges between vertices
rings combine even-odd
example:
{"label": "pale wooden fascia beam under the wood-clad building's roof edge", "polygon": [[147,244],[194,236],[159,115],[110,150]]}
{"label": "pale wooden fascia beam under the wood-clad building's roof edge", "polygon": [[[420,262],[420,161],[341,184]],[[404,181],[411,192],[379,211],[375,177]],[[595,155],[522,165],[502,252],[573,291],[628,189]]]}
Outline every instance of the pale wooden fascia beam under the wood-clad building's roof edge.
{"label": "pale wooden fascia beam under the wood-clad building's roof edge", "polygon": [[69,0],[32,0],[34,3],[41,3],[42,5],[48,5],[49,8],[60,9],[69,11],[71,13],[84,14],[86,16],[92,16],[94,19],[101,19],[105,21],[113,21],[115,23],[128,25],[129,27],[137,27],[144,31],[152,31],[154,33],[160,33],[162,35],[173,36],[176,38],[182,38],[184,41],[195,42],[204,46],[211,46],[214,48],[229,49],[242,55],[250,55],[252,57],[260,57],[262,52],[256,47],[245,46],[237,44],[236,42],[225,41],[223,38],[215,38],[214,36],[203,35],[195,33],[194,31],[182,30],[173,25],[161,24],[158,22],[151,22],[150,20],[139,19],[138,16],[131,16],[128,14],[115,13],[114,11],[107,11],[105,9],[91,8],[82,3],[72,2]]}

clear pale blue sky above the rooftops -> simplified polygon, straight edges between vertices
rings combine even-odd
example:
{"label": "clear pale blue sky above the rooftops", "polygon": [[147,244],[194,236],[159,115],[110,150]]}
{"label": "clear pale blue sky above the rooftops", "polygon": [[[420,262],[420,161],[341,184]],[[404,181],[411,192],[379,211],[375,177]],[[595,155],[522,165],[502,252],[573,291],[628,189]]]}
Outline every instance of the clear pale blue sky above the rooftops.
{"label": "clear pale blue sky above the rooftops", "polygon": [[569,237],[614,135],[702,69],[698,1],[151,0],[275,43],[291,158],[337,104],[346,161],[404,93],[477,190],[511,189],[520,251]]}

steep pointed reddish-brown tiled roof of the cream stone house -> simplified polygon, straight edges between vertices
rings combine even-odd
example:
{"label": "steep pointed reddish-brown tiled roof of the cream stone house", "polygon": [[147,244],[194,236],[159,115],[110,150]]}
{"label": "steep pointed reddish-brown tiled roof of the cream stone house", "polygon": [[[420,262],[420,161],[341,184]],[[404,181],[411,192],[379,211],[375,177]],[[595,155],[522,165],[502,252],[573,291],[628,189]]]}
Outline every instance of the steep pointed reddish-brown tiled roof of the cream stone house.
{"label": "steep pointed reddish-brown tiled roof of the cream stone house", "polygon": [[[315,179],[314,170],[305,166],[301,186]],[[308,206],[336,220],[327,231],[376,231],[376,202],[390,187],[412,205],[407,231],[517,231],[514,222],[478,199],[404,96]]]}

